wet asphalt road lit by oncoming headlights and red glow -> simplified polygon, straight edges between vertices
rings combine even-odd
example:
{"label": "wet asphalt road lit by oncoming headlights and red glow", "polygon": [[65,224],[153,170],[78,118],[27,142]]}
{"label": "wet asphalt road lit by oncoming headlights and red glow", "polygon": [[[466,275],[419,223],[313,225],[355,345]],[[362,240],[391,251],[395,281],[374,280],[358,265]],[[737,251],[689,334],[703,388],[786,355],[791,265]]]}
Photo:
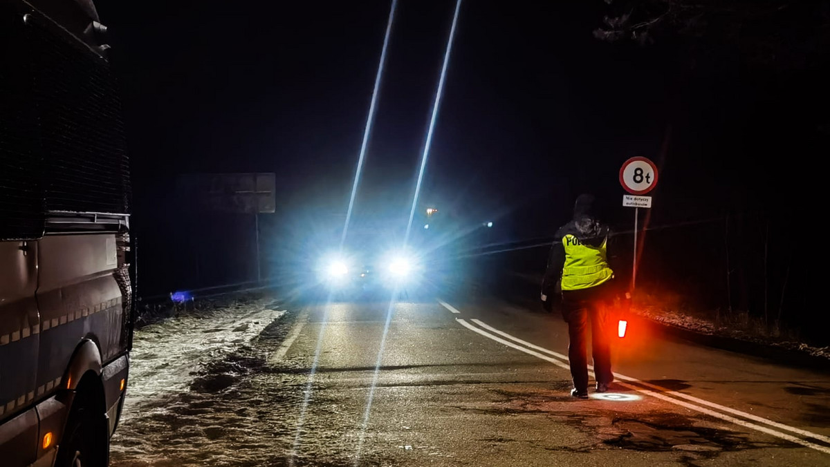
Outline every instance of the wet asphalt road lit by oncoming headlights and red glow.
{"label": "wet asphalt road lit by oncoming headlights and red glow", "polygon": [[[256,319],[261,332],[203,359],[186,387],[141,392],[132,378],[143,396],[112,464],[830,465],[826,372],[635,323],[614,348],[613,393],[577,400],[567,328],[534,305],[466,291],[391,307],[237,306],[245,316],[220,328]],[[188,328],[211,328],[197,321]]]}

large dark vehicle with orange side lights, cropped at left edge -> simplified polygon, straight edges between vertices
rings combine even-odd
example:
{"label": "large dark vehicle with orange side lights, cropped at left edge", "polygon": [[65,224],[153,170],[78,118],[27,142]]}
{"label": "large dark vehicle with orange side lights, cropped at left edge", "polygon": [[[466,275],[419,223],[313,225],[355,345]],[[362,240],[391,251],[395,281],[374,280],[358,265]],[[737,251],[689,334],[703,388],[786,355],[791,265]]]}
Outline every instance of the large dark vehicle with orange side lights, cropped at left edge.
{"label": "large dark vehicle with orange side lights, cropped at left edge", "polygon": [[89,0],[0,0],[0,465],[105,466],[129,381],[129,158]]}

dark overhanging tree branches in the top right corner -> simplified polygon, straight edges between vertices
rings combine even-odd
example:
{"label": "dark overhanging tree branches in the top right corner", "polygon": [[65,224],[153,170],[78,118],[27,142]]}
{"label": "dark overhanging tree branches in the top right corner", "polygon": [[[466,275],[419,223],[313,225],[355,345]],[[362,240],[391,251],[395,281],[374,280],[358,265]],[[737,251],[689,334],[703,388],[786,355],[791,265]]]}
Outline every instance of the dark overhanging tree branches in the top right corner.
{"label": "dark overhanging tree branches in the top right corner", "polygon": [[778,71],[828,62],[827,0],[605,0],[608,15],[594,36],[650,44],[686,40],[696,60],[735,58]]}

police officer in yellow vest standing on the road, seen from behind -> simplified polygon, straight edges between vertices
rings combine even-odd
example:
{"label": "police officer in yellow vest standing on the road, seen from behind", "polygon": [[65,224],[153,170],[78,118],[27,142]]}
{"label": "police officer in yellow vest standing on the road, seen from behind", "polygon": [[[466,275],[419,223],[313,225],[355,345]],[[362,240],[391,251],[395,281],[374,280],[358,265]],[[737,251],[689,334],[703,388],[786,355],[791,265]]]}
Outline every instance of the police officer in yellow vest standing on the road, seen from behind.
{"label": "police officer in yellow vest standing on the road, seen from behind", "polygon": [[613,381],[609,348],[609,312],[617,294],[614,271],[608,265],[609,229],[594,213],[594,197],[582,194],[574,204],[574,218],[559,228],[551,247],[542,281],[545,309],[562,295],[561,310],[568,323],[571,396],[588,397],[586,340],[591,325],[593,372],[597,392],[608,391]]}

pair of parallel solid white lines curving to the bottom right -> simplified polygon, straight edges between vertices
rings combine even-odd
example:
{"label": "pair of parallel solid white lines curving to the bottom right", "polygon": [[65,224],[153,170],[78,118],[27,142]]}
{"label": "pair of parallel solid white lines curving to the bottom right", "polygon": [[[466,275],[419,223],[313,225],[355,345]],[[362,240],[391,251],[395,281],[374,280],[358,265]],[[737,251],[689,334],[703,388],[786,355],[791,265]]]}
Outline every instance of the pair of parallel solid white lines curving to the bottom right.
{"label": "pair of parallel solid white lines curving to the bottom right", "polygon": [[[456,321],[458,321],[458,323],[461,323],[461,325],[463,325],[465,328],[468,328],[471,331],[479,333],[482,336],[485,336],[486,338],[490,338],[490,339],[492,339],[492,340],[494,340],[498,343],[505,344],[506,346],[508,346],[510,348],[515,348],[516,350],[519,350],[520,352],[524,352],[524,353],[533,355],[536,358],[541,358],[542,360],[544,360],[546,362],[554,363],[554,365],[556,365],[558,367],[563,367],[564,369],[567,369],[567,370],[570,369],[570,366],[568,364],[566,364],[564,362],[561,362],[560,360],[550,358],[547,355],[535,352],[534,350],[530,350],[530,348],[520,347],[519,345],[516,345],[515,343],[512,343],[512,342],[510,342],[508,340],[505,340],[503,338],[500,338],[500,337],[496,336],[495,334],[491,334],[491,333],[486,332],[485,330],[482,330],[480,328],[476,328],[472,324],[467,323],[465,319],[457,318]],[[477,323],[481,323],[481,321],[479,321],[477,319],[475,321]],[[508,333],[500,332],[500,334],[505,335],[505,337],[509,337],[509,338],[515,340],[516,342],[525,342],[525,341],[522,341],[520,338],[515,338],[513,336],[510,336],[510,334],[508,334]],[[543,350],[545,353],[555,354],[555,352],[553,352],[552,350],[548,350],[548,349],[545,349],[545,348],[540,348],[539,346],[535,346],[535,345],[533,347],[534,348],[539,348],[540,350]],[[618,374],[618,373],[614,373],[614,375],[616,377],[619,377],[620,379],[625,380],[625,381],[637,382],[637,383],[641,383],[641,384],[646,385],[646,386],[660,388],[657,385],[652,385],[652,384],[649,384],[649,383],[641,382],[637,378],[627,377],[625,375]],[[765,433],[767,435],[773,435],[775,437],[778,437],[782,440],[788,440],[788,441],[796,443],[798,445],[803,445],[803,446],[811,448],[813,450],[818,450],[818,451],[821,451],[825,454],[830,454],[830,448],[825,447],[823,445],[817,445],[815,443],[811,443],[810,441],[802,440],[801,438],[797,438],[793,435],[789,435],[787,433],[782,433],[781,431],[775,431],[775,430],[773,430],[771,428],[768,428],[766,426],[760,426],[760,425],[756,425],[754,423],[751,423],[749,421],[740,420],[739,418],[735,418],[733,416],[728,416],[728,415],[722,414],[720,412],[707,409],[706,407],[696,406],[695,404],[691,404],[691,403],[686,402],[686,401],[678,401],[677,399],[675,399],[673,397],[669,397],[669,396],[666,396],[665,394],[662,394],[662,392],[671,392],[671,391],[664,390],[664,388],[658,389],[658,391],[662,390],[662,392],[655,392],[655,391],[645,389],[645,388],[642,388],[642,387],[637,387],[637,386],[634,386],[632,384],[628,384],[628,383],[625,383],[625,382],[619,382],[619,384],[624,386],[624,387],[628,387],[628,388],[630,388],[634,391],[642,392],[643,394],[646,394],[648,396],[656,397],[657,399],[661,399],[662,401],[670,402],[671,404],[675,404],[677,406],[686,407],[687,409],[690,409],[690,410],[693,410],[693,411],[698,411],[698,412],[701,412],[701,413],[706,414],[708,416],[714,416],[715,418],[719,418],[720,420],[723,420],[723,421],[729,421],[730,423],[734,423],[735,425],[738,425],[738,426],[744,426],[745,428],[749,428],[750,430],[760,431],[760,432]],[[681,393],[677,393],[677,394],[681,394]],[[700,401],[704,405],[718,406],[717,404],[713,404],[712,402],[704,401],[702,399],[700,399]],[[737,412],[744,413],[744,412],[740,412],[740,411],[737,411]],[[750,415],[750,414],[746,414],[746,415]],[[757,418],[759,418],[764,423],[769,423],[770,425],[776,424],[776,422],[768,421],[767,419],[764,419],[762,417],[757,417]],[[783,425],[783,424],[776,424],[776,425],[784,426],[785,429],[788,430],[788,431],[793,431],[793,432],[796,432],[796,433],[799,433],[799,434],[805,434],[805,436],[808,436],[808,437],[811,437],[811,438],[814,438],[814,439],[822,440],[823,438],[825,438],[822,435],[818,435],[818,434],[812,433],[810,431],[803,431],[803,430],[800,430],[800,429],[795,428],[793,426],[787,426],[787,425]]]}

